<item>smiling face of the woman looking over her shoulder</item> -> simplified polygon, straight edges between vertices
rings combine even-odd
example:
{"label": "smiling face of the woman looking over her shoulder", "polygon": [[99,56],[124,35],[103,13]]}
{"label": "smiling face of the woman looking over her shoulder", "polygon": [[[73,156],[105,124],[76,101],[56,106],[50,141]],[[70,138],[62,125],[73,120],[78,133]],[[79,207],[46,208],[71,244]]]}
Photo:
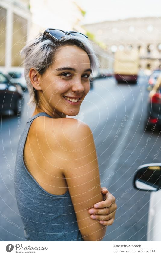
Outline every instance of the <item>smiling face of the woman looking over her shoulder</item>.
{"label": "smiling face of the woman looking over her shoulder", "polygon": [[68,45],[59,48],[54,59],[40,78],[39,108],[55,117],[75,116],[90,90],[90,59],[83,49]]}

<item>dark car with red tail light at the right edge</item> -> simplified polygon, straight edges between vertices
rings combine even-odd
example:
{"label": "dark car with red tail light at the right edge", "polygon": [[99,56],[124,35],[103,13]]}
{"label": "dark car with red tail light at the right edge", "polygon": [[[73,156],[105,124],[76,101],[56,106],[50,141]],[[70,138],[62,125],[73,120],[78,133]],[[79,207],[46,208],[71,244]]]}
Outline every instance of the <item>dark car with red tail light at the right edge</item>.
{"label": "dark car with red tail light at the right edge", "polygon": [[151,128],[153,124],[161,125],[161,75],[149,94],[145,129]]}

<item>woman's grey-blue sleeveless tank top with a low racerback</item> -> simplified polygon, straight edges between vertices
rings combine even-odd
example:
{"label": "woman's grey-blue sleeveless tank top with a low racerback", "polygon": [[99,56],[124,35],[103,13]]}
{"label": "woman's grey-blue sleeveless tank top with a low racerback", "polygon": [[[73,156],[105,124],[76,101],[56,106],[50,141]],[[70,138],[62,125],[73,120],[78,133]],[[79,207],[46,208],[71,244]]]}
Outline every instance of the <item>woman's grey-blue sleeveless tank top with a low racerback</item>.
{"label": "woman's grey-blue sleeveless tank top with a low racerback", "polygon": [[45,112],[28,119],[21,134],[15,163],[15,194],[24,236],[29,241],[84,241],[79,231],[69,190],[63,195],[45,191],[27,171],[23,150],[33,120]]}

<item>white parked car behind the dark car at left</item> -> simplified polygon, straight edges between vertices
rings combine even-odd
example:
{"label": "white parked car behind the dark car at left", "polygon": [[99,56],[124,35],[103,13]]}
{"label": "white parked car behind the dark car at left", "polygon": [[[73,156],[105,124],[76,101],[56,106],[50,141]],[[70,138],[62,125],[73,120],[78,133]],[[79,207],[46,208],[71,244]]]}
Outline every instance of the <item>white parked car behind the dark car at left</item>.
{"label": "white parked car behind the dark car at left", "polygon": [[24,77],[24,68],[10,68],[8,74],[12,77],[12,81],[21,85],[23,90],[27,90],[27,84]]}

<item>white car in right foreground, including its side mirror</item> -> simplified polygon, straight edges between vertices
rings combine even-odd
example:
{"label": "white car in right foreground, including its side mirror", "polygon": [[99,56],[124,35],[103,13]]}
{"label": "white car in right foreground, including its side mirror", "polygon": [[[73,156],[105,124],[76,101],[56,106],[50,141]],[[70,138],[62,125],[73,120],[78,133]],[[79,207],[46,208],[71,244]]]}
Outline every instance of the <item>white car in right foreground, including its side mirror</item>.
{"label": "white car in right foreground, including its side mirror", "polygon": [[134,188],[150,191],[147,241],[161,241],[161,163],[141,165],[133,181]]}

